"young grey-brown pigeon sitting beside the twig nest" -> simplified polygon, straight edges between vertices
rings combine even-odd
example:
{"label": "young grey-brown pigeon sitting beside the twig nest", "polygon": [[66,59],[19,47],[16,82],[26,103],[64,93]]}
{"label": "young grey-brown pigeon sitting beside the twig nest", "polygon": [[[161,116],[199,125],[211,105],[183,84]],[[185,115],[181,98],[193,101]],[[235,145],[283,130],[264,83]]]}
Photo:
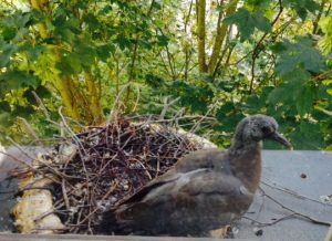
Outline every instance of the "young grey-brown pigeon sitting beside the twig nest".
{"label": "young grey-brown pigeon sitting beside the twig nest", "polygon": [[104,234],[206,237],[232,224],[252,202],[261,176],[261,140],[291,144],[274,118],[252,115],[237,126],[228,150],[200,149],[179,159],[102,214]]}

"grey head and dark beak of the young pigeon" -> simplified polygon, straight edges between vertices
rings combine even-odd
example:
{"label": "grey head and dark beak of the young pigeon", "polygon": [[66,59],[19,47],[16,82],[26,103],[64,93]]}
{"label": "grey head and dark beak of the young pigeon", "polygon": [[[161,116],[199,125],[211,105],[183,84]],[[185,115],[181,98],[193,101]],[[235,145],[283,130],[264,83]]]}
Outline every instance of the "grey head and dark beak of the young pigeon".
{"label": "grey head and dark beak of the young pigeon", "polygon": [[235,140],[241,143],[260,142],[271,139],[291,148],[292,145],[278,133],[278,123],[266,115],[252,115],[243,118],[237,126]]}

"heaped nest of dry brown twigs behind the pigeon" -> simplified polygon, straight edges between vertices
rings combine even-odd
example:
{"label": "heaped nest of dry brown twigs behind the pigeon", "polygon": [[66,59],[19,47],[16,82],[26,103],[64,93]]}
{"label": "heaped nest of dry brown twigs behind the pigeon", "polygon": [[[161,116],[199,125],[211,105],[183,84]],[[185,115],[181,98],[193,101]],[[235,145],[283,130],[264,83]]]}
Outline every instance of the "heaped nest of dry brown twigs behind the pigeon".
{"label": "heaped nest of dry brown twigs behind the pigeon", "polygon": [[152,120],[87,127],[43,156],[38,172],[52,177],[53,212],[63,232],[96,233],[98,213],[201,148],[189,134]]}

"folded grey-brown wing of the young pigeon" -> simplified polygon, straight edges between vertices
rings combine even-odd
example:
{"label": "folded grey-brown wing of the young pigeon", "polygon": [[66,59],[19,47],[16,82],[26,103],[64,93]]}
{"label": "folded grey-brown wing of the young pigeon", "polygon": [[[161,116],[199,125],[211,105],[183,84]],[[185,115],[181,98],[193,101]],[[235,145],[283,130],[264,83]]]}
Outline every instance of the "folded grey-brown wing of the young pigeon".
{"label": "folded grey-brown wing of the young pigeon", "polygon": [[[145,196],[139,201],[120,206],[117,218],[124,222],[133,220],[138,227],[151,220],[163,220],[164,224],[172,226],[178,220],[206,218],[211,222],[207,226],[214,228],[238,218],[252,200],[252,193],[239,179],[206,168],[177,174],[167,180],[149,186],[148,191],[143,190]],[[194,223],[188,222],[187,226]]]}

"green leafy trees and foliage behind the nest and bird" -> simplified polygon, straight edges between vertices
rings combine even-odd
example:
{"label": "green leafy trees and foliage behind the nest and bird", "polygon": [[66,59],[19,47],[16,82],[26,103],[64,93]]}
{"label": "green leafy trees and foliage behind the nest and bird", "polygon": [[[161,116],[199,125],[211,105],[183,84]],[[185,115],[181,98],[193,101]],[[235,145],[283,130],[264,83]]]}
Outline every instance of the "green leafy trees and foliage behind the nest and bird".
{"label": "green leafy trees and foliage behind the nest and bird", "polygon": [[207,115],[225,147],[263,113],[295,148],[332,149],[331,4],[1,0],[0,142],[59,135],[62,113],[102,124],[118,96],[121,114]]}

